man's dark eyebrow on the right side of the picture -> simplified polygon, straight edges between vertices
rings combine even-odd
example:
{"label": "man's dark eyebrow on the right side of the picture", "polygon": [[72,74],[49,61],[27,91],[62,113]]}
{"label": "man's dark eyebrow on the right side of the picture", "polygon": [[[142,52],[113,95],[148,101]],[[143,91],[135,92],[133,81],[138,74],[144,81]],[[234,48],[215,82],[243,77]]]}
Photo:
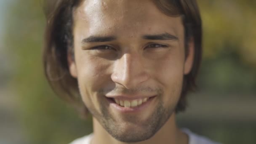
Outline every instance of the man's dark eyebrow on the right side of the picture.
{"label": "man's dark eyebrow on the right side of the picture", "polygon": [[178,37],[167,32],[159,35],[144,35],[142,38],[146,40],[179,40]]}

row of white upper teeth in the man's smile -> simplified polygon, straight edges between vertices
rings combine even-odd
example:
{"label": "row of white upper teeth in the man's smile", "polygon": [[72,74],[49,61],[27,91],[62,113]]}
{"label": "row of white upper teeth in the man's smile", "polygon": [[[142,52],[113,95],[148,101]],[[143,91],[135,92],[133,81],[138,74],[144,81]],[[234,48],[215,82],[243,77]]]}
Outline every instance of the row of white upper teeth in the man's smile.
{"label": "row of white upper teeth in the man's smile", "polygon": [[135,100],[132,100],[132,101],[128,101],[128,100],[125,100],[125,101],[122,101],[120,99],[114,99],[115,100],[115,103],[122,106],[122,107],[137,107],[141,104],[143,104],[144,102],[146,102],[149,98],[144,98],[144,99],[135,99]]}

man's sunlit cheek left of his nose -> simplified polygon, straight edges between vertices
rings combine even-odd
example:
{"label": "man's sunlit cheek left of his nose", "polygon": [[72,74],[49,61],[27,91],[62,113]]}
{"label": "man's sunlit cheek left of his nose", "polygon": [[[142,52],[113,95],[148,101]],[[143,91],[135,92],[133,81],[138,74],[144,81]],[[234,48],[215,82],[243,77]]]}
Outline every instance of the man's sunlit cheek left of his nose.
{"label": "man's sunlit cheek left of his nose", "polygon": [[[109,61],[103,61],[90,56],[77,56],[77,73],[80,94],[87,107],[98,107],[97,92],[108,81]],[[98,107],[99,108],[99,107]]]}

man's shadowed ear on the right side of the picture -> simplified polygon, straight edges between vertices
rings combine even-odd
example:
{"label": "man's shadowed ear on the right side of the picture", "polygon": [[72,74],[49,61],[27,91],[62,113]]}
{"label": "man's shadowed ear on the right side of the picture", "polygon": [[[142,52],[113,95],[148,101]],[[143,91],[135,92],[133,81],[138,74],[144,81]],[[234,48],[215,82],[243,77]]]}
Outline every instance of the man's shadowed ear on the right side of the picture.
{"label": "man's shadowed ear on the right side of the picture", "polygon": [[194,55],[195,55],[195,43],[194,43],[194,38],[189,39],[188,43],[188,48],[187,48],[187,57],[185,58],[185,64],[184,64],[184,75],[189,74],[193,67],[193,62],[194,62]]}

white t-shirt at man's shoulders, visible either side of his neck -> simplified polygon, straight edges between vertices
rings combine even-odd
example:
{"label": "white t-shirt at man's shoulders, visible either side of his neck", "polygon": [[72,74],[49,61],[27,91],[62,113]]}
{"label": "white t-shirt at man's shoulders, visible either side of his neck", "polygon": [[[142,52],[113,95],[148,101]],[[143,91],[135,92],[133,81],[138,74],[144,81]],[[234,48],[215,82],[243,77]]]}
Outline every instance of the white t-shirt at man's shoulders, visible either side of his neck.
{"label": "white t-shirt at man's shoulders, visible either side of his neck", "polygon": [[[187,128],[182,128],[181,131],[186,133],[189,136],[189,144],[220,144],[214,141],[211,141],[210,139],[206,138],[205,136],[200,136],[195,133],[192,133]],[[93,133],[91,133],[88,136],[84,136],[82,138],[76,139],[70,144],[90,144],[90,141],[93,137]]]}

